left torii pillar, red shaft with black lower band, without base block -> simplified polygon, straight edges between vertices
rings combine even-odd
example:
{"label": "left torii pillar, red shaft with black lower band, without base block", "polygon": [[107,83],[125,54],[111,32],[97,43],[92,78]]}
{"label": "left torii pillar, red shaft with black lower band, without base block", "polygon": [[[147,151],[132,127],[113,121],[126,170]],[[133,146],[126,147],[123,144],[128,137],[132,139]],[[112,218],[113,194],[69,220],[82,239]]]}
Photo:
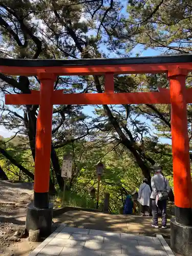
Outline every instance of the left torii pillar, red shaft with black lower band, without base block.
{"label": "left torii pillar, red shaft with black lower band, without base block", "polygon": [[40,72],[40,104],[37,117],[35,148],[34,207],[49,207],[49,179],[52,137],[52,95],[55,77]]}

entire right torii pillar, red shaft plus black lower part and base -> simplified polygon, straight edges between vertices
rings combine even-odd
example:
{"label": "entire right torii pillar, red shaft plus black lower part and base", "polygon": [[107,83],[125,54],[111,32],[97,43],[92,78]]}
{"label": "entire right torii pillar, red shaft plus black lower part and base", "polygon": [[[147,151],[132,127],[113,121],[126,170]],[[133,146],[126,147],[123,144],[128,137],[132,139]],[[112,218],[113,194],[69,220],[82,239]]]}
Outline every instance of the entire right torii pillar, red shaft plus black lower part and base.
{"label": "entire right torii pillar, red shaft plus black lower part and base", "polygon": [[171,123],[175,194],[175,219],[172,219],[170,224],[170,244],[175,252],[182,255],[191,255],[192,184],[187,131],[186,75],[187,71],[180,69],[168,73],[172,108]]}

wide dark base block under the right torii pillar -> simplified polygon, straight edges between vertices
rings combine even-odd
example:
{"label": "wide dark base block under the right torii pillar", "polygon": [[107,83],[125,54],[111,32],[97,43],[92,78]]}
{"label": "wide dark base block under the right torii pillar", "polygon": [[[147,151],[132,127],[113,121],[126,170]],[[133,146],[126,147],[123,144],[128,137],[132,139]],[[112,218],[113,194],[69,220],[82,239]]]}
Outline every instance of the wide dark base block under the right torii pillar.
{"label": "wide dark base block under the right torii pillar", "polygon": [[[192,216],[190,217],[192,218]],[[176,222],[175,218],[170,221],[170,246],[176,253],[192,255],[192,226],[186,226]]]}

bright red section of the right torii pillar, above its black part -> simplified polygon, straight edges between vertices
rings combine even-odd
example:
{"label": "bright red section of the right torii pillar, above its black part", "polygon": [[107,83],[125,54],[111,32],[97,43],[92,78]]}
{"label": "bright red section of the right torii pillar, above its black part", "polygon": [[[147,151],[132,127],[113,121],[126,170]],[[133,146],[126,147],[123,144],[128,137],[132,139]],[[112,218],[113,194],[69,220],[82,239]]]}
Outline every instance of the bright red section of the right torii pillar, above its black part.
{"label": "bright red section of the right torii pillar, above its black part", "polygon": [[186,109],[186,74],[187,71],[179,69],[168,73],[170,79],[170,102],[172,104],[171,123],[175,205],[180,208],[180,211],[192,206]]}

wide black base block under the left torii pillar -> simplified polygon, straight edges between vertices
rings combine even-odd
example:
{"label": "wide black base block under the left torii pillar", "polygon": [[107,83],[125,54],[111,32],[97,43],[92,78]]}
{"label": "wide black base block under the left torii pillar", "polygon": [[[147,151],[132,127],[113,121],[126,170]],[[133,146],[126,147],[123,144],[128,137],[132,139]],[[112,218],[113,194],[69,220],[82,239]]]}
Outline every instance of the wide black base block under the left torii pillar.
{"label": "wide black base block under the left torii pillar", "polygon": [[27,207],[26,230],[40,230],[41,237],[47,237],[51,234],[53,218],[53,204],[49,208],[39,209],[34,207],[33,203]]}

